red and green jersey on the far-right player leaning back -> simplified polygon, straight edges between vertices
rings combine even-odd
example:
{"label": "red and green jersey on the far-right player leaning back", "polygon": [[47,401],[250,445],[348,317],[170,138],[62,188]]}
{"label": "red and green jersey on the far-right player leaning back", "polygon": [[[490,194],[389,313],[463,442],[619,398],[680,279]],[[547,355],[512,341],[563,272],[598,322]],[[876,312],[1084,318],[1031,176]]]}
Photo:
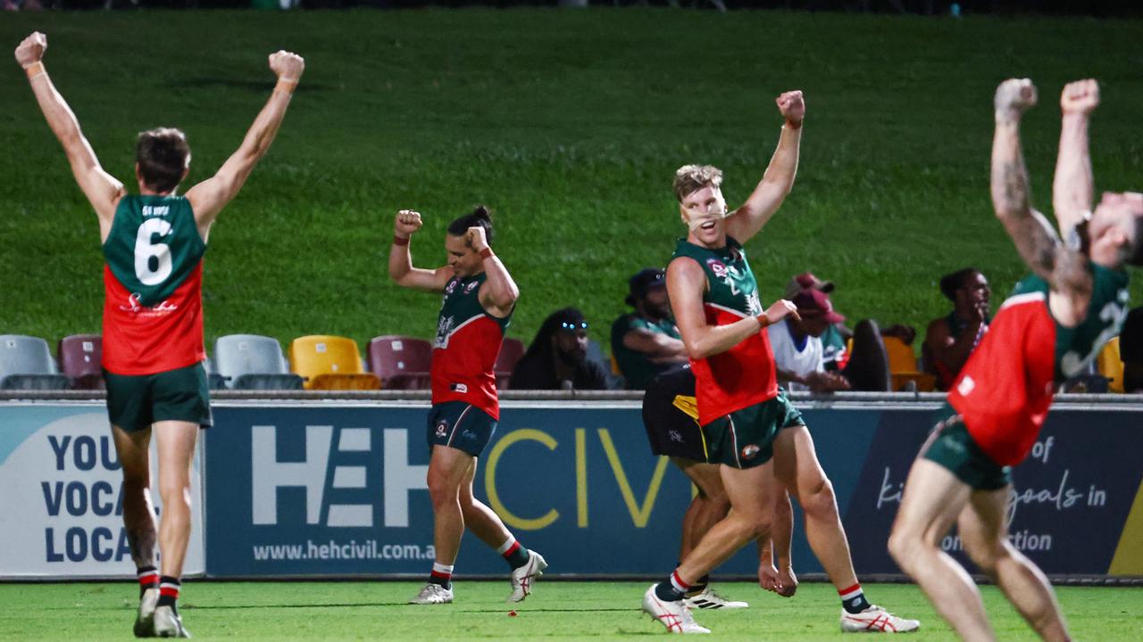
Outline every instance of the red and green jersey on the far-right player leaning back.
{"label": "red and green jersey on the far-right player leaning back", "polygon": [[1036,443],[1053,391],[1081,374],[1127,314],[1127,273],[1089,264],[1087,316],[1065,328],[1048,310],[1048,283],[1036,275],[1016,283],[949,392],[973,440],[997,464],[1024,460]]}

